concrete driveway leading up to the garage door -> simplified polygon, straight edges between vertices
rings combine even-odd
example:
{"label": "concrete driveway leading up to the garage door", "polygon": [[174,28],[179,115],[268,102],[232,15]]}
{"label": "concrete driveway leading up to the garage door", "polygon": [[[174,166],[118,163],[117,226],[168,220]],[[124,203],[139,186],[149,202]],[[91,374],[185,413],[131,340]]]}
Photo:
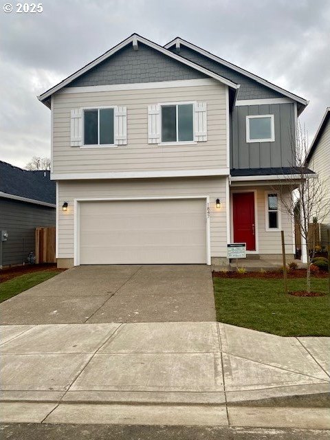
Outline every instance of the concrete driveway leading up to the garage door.
{"label": "concrete driveway leading up to the garage door", "polygon": [[0,305],[1,324],[215,321],[206,265],[80,266]]}

